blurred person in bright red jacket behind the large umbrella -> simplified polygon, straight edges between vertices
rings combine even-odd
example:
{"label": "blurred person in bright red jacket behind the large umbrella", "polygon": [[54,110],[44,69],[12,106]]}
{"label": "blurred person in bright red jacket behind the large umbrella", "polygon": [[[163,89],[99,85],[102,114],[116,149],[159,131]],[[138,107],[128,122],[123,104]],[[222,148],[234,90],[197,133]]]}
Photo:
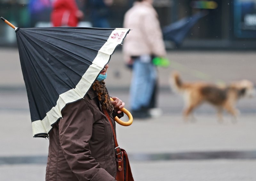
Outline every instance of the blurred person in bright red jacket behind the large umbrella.
{"label": "blurred person in bright red jacket behind the large umbrella", "polygon": [[76,27],[84,18],[84,13],[77,8],[75,0],[55,0],[52,4],[52,26]]}

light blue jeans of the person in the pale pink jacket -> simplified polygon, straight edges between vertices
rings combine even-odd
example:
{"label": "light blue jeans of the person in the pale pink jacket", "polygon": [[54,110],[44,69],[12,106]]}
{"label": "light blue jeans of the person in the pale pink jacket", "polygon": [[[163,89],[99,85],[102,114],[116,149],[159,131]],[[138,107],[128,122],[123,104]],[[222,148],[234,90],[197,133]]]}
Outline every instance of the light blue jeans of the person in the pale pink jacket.
{"label": "light blue jeans of the person in the pale pink jacket", "polygon": [[130,87],[132,111],[137,111],[141,107],[148,107],[154,91],[156,78],[156,67],[151,61],[142,62],[140,58],[134,60]]}

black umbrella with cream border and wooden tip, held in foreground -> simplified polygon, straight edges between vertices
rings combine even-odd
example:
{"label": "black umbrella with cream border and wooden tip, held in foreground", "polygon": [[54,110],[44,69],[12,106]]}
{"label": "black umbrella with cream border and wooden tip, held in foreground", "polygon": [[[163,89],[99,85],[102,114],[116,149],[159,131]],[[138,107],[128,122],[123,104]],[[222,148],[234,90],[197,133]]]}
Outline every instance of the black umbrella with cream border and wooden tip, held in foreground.
{"label": "black umbrella with cream border and wooden tip, held in foreground", "polygon": [[91,88],[116,47],[124,28],[16,28],[20,64],[27,89],[34,137],[48,137],[61,110]]}

